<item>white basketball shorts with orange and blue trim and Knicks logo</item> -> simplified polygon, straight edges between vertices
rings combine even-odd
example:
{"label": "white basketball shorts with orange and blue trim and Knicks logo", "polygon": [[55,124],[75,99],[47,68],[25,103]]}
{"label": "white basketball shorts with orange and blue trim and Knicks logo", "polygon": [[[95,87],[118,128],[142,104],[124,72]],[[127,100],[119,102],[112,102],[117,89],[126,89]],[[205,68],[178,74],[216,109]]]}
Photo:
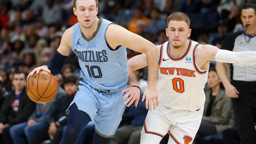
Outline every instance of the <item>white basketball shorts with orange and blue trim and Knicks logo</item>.
{"label": "white basketball shorts with orange and blue trim and Knicks logo", "polygon": [[[170,140],[177,144],[192,143],[200,126],[203,116],[203,107],[195,111],[172,109],[159,103],[156,109],[148,111],[144,128],[144,134],[155,134],[164,137],[169,133]],[[142,133],[142,134],[143,134]],[[150,138],[149,138],[150,139]],[[146,143],[148,140],[142,140]]]}

